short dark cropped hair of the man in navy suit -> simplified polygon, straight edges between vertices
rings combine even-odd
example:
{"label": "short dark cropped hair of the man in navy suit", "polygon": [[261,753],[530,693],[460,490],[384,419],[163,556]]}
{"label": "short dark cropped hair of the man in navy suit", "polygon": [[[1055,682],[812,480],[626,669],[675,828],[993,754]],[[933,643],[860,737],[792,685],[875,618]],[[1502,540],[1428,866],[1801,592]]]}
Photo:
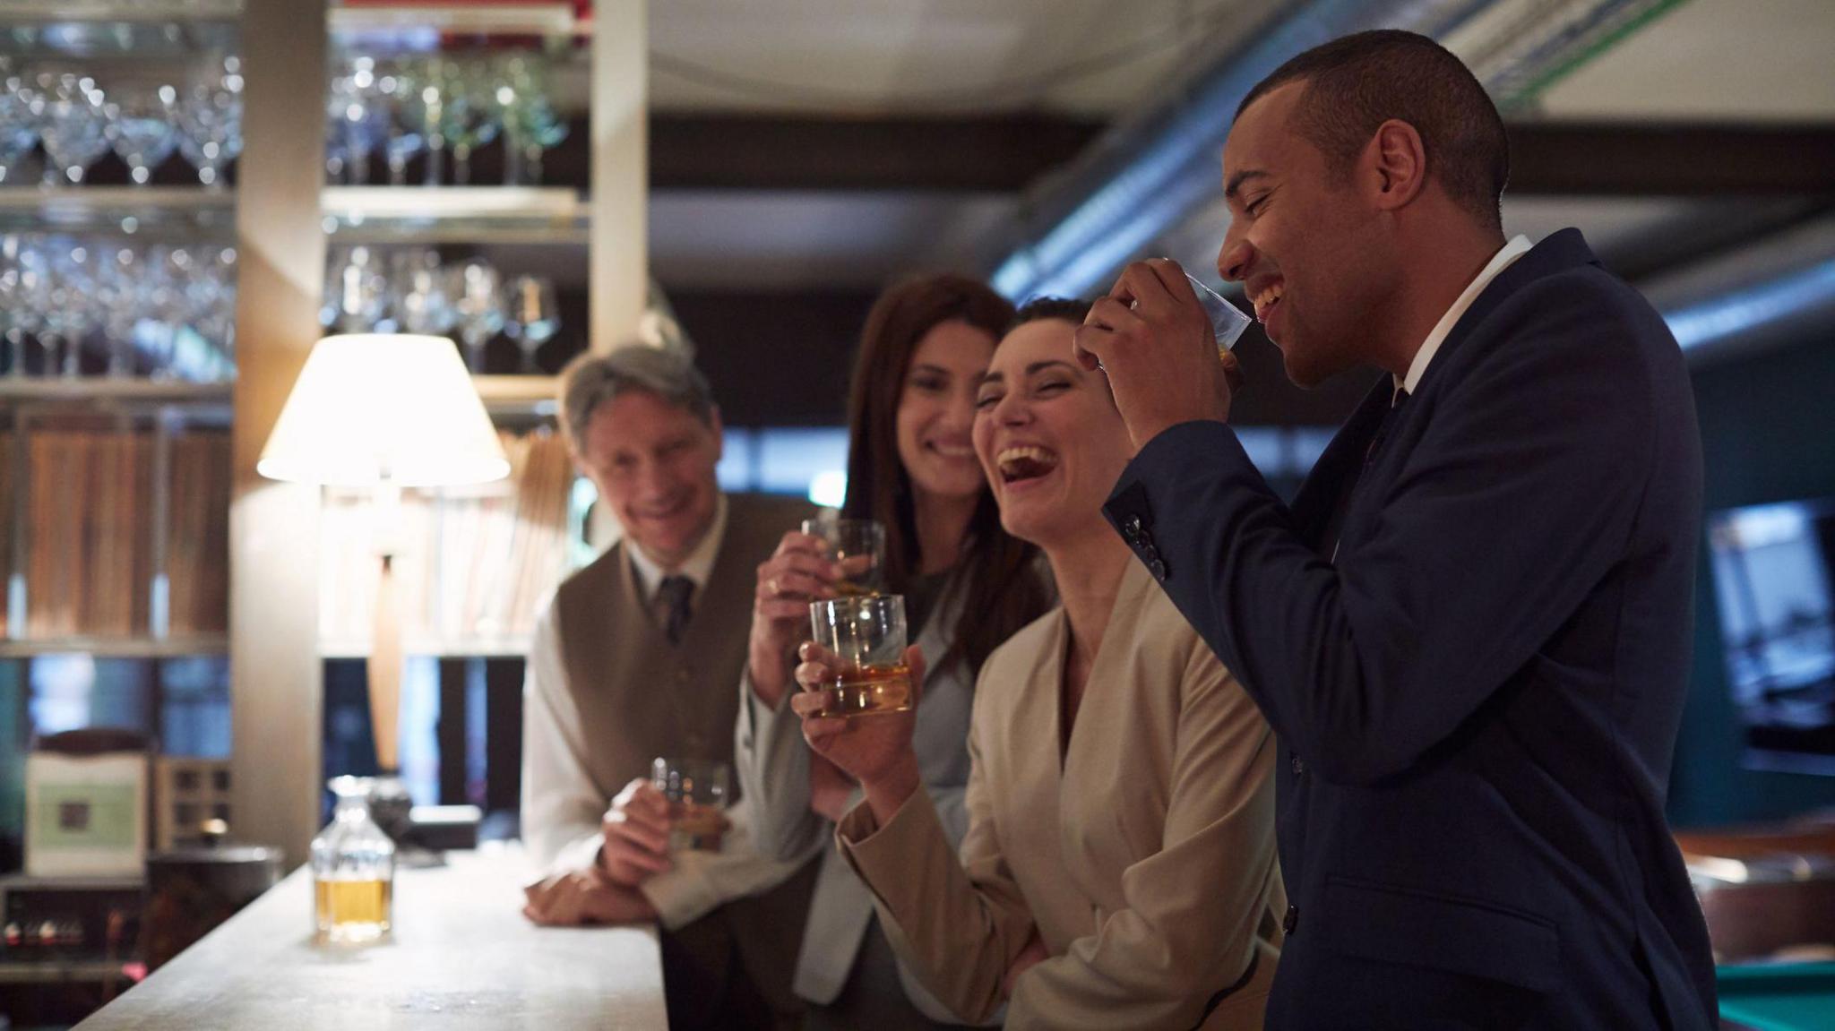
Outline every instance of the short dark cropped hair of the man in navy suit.
{"label": "short dark cropped hair of the man in navy suit", "polygon": [[1472,70],[1444,46],[1402,29],[1334,39],[1279,66],[1237,106],[1237,117],[1262,95],[1305,83],[1294,127],[1325,152],[1334,174],[1352,161],[1384,121],[1415,127],[1453,202],[1481,224],[1503,229],[1499,198],[1510,178],[1510,143],[1497,105]]}

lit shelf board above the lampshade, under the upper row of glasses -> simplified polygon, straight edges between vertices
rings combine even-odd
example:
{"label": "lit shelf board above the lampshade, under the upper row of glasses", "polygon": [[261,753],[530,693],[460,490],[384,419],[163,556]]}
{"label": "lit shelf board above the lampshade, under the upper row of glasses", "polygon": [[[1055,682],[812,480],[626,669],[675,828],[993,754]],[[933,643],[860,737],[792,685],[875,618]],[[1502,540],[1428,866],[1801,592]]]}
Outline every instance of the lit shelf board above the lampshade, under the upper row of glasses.
{"label": "lit shelf board above the lampshade, under the upper row of glasses", "polygon": [[571,187],[330,185],[319,198],[339,242],[585,242],[591,205]]}

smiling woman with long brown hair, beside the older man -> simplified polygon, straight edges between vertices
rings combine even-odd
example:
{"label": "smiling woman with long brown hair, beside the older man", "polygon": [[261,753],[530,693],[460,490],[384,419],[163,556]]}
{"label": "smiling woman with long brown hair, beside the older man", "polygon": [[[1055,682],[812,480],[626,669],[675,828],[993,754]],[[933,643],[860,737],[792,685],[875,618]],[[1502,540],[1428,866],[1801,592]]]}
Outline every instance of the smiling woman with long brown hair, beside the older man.
{"label": "smiling woman with long brown hair, beside the older man", "polygon": [[[976,671],[1017,629],[1050,607],[1037,549],[1000,528],[974,455],[974,391],[1013,306],[958,275],[886,290],[868,314],[848,400],[848,495],[842,516],[886,527],[884,585],[903,594],[910,633],[936,670],[916,714],[914,747],[947,835],[967,829],[967,732]],[[758,569],[751,659],[736,761],[754,807],[758,848],[806,853],[833,833],[857,787],[804,747],[789,712],[795,648],[809,602],[831,598],[833,567],[818,539],[785,534]],[[897,963],[875,926],[866,886],[824,849],[796,965],[807,1027],[930,1027],[952,1016]]]}

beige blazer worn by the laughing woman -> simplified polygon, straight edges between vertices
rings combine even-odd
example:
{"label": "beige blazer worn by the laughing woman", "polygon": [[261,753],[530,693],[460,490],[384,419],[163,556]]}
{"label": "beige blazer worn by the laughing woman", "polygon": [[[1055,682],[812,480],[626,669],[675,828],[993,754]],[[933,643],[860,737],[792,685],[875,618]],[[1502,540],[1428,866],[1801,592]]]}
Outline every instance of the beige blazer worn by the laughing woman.
{"label": "beige blazer worn by the laughing woman", "polygon": [[1273,736],[1130,561],[1061,761],[1068,642],[1055,609],[982,668],[960,860],[925,793],[884,826],[857,805],[837,844],[965,1020],[1002,1003],[1037,930],[1051,958],[1020,976],[1007,1027],[1261,1027],[1286,906]]}

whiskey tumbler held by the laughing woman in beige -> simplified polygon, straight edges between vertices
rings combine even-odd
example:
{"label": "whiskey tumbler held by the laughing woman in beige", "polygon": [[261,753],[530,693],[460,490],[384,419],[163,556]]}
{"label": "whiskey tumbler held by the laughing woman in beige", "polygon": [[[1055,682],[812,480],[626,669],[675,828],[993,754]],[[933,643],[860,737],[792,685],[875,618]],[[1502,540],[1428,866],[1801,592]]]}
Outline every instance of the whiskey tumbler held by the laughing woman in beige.
{"label": "whiskey tumbler held by the laughing woman in beige", "polygon": [[842,596],[809,605],[815,642],[840,660],[826,688],[822,715],[872,715],[912,706],[912,675],[905,666],[905,598],[901,594]]}

